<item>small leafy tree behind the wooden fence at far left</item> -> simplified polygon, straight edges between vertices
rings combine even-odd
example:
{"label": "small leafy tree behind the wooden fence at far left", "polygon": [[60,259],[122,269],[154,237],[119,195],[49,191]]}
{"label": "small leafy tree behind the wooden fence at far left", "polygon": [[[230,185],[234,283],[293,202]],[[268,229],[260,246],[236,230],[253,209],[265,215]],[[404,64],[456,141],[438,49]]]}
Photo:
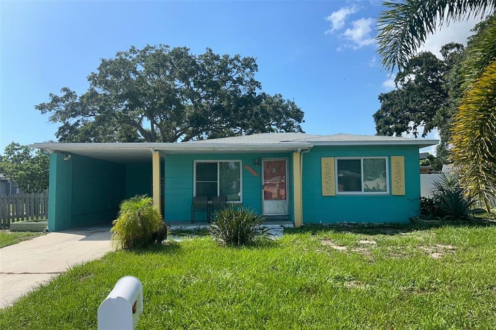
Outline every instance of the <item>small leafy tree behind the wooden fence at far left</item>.
{"label": "small leafy tree behind the wooden fence at far left", "polygon": [[41,150],[11,142],[0,156],[0,172],[12,179],[25,193],[48,189],[50,158]]}

